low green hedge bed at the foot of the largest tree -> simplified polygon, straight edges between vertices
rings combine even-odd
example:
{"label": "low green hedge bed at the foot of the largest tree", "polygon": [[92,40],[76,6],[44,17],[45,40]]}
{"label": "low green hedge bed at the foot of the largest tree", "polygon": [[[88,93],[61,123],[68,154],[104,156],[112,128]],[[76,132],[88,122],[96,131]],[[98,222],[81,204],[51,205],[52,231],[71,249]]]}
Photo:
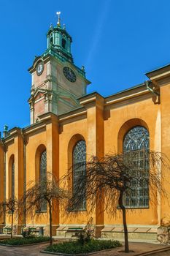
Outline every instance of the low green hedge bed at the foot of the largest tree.
{"label": "low green hedge bed at the foot of the largest tree", "polygon": [[79,241],[63,242],[62,244],[53,244],[48,246],[45,251],[47,252],[61,252],[77,255],[79,253],[98,252],[104,249],[112,249],[121,246],[119,241],[111,240],[91,240],[86,244],[80,244]]}

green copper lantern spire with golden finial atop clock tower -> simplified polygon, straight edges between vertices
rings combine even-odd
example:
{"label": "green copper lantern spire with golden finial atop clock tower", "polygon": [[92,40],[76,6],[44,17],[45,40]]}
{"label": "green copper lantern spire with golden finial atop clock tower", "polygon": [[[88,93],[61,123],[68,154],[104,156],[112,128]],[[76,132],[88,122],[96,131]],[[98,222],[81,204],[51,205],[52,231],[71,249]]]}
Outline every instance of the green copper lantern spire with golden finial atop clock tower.
{"label": "green copper lantern spire with golden finial atop clock tower", "polygon": [[61,26],[61,12],[56,12],[58,15],[57,26],[50,26],[50,29],[47,31],[47,51],[53,50],[59,56],[73,63],[72,53],[71,53],[71,44],[72,37],[66,31],[66,26]]}

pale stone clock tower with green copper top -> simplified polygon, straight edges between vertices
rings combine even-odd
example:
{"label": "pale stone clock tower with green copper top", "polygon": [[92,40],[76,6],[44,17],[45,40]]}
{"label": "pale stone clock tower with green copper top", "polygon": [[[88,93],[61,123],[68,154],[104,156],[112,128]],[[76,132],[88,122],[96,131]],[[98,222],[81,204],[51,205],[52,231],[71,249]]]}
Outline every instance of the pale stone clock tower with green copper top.
{"label": "pale stone clock tower with green copper top", "polygon": [[28,71],[31,73],[30,105],[31,124],[39,121],[43,113],[56,115],[80,107],[78,98],[86,94],[90,81],[85,78],[85,69],[74,64],[72,37],[61,26],[60,14],[57,26],[47,31],[47,50],[36,56]]}

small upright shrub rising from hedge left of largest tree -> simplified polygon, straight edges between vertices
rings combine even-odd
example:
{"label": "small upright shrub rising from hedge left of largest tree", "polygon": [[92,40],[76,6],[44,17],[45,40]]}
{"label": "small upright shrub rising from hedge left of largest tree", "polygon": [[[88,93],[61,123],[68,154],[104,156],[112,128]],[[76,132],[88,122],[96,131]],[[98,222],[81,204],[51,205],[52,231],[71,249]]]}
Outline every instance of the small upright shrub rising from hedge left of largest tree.
{"label": "small upright shrub rising from hedge left of largest tree", "polygon": [[84,230],[78,233],[78,241],[80,244],[85,244],[91,241],[94,238],[94,225],[93,218],[91,217],[88,221],[88,224],[85,226]]}

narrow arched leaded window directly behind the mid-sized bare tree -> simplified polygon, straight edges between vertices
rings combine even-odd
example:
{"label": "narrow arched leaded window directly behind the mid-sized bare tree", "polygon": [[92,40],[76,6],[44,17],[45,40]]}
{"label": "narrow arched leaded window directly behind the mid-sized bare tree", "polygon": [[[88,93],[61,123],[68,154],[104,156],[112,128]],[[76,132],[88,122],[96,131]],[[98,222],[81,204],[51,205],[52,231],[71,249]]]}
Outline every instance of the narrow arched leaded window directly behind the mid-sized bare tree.
{"label": "narrow arched leaded window directly behind the mid-sized bare tree", "polygon": [[[47,178],[47,152],[46,150],[42,152],[40,156],[40,162],[39,162],[39,183],[41,185],[42,181],[45,181]],[[42,189],[44,193],[45,189],[45,183],[42,184]],[[40,211],[47,211],[47,202],[46,200],[41,201]]]}

